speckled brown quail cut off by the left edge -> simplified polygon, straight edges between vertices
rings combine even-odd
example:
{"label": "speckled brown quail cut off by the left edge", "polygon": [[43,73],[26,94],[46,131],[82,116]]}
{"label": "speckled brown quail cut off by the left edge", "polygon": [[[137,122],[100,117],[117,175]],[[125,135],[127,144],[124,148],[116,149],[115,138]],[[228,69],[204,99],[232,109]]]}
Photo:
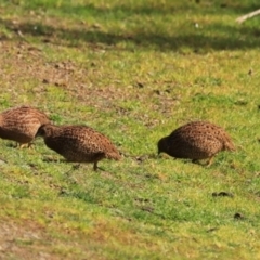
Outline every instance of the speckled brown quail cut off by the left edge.
{"label": "speckled brown quail cut off by the left edge", "polygon": [[31,141],[40,126],[49,123],[47,115],[35,107],[20,106],[0,114],[0,138],[16,141],[20,147]]}

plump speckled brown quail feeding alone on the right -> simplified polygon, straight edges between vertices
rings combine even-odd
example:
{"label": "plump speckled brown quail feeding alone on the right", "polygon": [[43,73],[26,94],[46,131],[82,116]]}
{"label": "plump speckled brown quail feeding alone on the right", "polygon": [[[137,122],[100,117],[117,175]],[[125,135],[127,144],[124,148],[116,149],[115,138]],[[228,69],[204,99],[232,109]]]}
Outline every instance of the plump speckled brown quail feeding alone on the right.
{"label": "plump speckled brown quail feeding alone on the right", "polygon": [[193,121],[176,129],[170,135],[158,142],[158,153],[165,152],[176,158],[195,160],[209,158],[220,151],[234,151],[230,135],[211,122]]}

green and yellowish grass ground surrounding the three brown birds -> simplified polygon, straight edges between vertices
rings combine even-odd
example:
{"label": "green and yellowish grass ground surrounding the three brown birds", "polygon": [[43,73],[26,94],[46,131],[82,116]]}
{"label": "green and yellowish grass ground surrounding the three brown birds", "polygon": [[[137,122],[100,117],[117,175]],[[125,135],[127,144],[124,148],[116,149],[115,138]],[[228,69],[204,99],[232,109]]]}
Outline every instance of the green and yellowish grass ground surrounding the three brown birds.
{"label": "green and yellowish grass ground surrounding the three brown birds", "polygon": [[[259,17],[235,23],[257,8],[1,1],[1,110],[91,126],[126,156],[96,173],[40,139],[34,151],[0,140],[0,257],[260,259]],[[157,141],[195,119],[224,127],[237,151],[210,168],[157,158]]]}

